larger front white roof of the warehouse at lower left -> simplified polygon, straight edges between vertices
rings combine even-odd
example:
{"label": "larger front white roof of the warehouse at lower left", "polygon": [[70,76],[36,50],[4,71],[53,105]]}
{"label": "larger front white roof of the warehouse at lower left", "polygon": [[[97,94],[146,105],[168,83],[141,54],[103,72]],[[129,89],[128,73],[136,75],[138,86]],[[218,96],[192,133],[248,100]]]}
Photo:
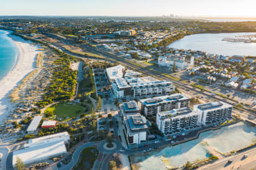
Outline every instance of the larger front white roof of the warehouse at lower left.
{"label": "larger front white roof of the warehouse at lower left", "polygon": [[56,141],[44,145],[24,148],[22,150],[13,152],[13,167],[15,167],[17,157],[19,157],[26,165],[62,154],[67,154],[63,141]]}

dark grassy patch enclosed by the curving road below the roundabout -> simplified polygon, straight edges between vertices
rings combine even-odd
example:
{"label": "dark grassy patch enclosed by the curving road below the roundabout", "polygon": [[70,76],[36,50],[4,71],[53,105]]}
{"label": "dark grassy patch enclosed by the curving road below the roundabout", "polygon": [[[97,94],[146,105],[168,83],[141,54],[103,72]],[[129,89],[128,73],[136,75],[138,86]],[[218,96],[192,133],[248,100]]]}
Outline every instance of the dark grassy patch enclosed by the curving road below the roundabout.
{"label": "dark grassy patch enclosed by the curving road below the roundabout", "polygon": [[80,160],[76,164],[76,167],[73,169],[75,170],[86,170],[86,169],[92,169],[93,163],[98,157],[98,150],[95,147],[89,147],[82,150],[82,153],[80,155]]}

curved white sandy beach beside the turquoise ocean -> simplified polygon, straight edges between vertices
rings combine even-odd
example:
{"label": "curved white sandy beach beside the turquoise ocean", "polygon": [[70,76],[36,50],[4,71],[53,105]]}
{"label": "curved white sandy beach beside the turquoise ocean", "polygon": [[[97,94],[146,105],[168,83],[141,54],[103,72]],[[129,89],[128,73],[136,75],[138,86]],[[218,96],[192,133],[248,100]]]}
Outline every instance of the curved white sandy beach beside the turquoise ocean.
{"label": "curved white sandy beach beside the turquoise ocean", "polygon": [[13,69],[0,80],[0,125],[5,122],[5,119],[10,114],[15,103],[11,103],[8,98],[11,90],[17,86],[20,81],[27,76],[28,73],[35,69],[35,60],[37,47],[31,45],[29,42],[23,39],[11,36],[18,49],[18,55]]}

